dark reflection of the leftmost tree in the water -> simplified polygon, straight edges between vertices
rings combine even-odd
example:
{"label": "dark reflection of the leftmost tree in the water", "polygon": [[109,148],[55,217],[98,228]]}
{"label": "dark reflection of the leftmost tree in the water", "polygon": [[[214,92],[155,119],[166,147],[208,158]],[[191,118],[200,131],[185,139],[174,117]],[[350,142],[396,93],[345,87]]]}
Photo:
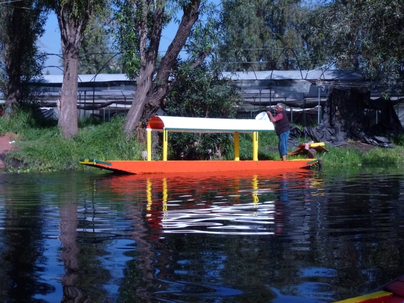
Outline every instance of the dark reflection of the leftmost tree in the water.
{"label": "dark reflection of the leftmost tree in the water", "polygon": [[[43,207],[32,179],[0,174],[0,205],[4,218],[0,233],[0,301],[41,302],[35,294],[55,291],[40,280],[43,256]],[[1,222],[1,221],[0,221]]]}

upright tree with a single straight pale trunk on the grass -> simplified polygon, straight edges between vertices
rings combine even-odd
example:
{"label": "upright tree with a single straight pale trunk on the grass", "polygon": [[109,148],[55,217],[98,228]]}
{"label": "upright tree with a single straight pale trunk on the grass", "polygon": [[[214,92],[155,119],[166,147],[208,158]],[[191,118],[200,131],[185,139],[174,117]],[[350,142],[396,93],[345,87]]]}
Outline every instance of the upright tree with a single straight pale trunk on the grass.
{"label": "upright tree with a single straight pale trunk on the grass", "polygon": [[77,78],[79,50],[90,16],[105,6],[105,0],[58,0],[55,11],[62,38],[63,83],[60,92],[59,127],[66,138],[77,126]]}

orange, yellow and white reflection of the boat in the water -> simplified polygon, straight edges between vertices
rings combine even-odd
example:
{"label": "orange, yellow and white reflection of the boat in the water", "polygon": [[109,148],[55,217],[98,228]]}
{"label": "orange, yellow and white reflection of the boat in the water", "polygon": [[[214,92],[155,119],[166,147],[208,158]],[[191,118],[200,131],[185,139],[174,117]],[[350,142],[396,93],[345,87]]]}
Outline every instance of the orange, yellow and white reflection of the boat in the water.
{"label": "orange, yellow and white reflection of the boat in the water", "polygon": [[[134,183],[137,188],[139,182],[144,184],[145,216],[154,232],[270,235],[282,228],[280,202],[287,201],[288,180],[297,178],[297,186],[302,186],[301,178],[312,174],[297,170],[270,176],[126,175],[112,180],[113,188],[126,195],[139,194],[133,192]],[[232,188],[226,189],[229,180]],[[266,199],[268,194],[274,199]]]}

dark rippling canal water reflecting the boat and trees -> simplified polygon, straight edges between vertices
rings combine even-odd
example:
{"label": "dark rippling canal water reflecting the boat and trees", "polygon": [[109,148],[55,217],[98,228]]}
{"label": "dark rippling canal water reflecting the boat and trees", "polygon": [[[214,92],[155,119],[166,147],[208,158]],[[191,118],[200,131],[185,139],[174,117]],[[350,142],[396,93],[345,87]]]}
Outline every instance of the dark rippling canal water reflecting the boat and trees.
{"label": "dark rippling canal water reflecting the boat and trees", "polygon": [[0,174],[1,302],[334,302],[404,274],[402,168]]}

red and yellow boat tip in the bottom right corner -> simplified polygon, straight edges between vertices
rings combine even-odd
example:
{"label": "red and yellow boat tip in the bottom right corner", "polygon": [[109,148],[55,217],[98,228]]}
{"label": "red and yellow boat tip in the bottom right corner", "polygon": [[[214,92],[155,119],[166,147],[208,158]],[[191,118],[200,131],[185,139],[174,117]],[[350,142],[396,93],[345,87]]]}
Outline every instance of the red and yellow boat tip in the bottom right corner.
{"label": "red and yellow boat tip in the bottom right corner", "polygon": [[335,303],[403,303],[404,276],[380,287],[377,291]]}

